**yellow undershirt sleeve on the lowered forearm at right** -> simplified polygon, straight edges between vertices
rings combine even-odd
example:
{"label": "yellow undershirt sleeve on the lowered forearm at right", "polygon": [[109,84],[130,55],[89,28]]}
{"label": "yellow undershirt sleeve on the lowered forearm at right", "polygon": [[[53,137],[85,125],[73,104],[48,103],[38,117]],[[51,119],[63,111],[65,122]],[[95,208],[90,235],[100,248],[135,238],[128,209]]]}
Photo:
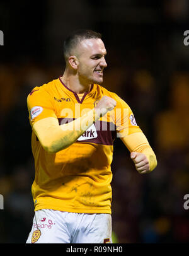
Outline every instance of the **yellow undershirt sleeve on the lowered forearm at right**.
{"label": "yellow undershirt sleeve on the lowered forearm at right", "polygon": [[152,150],[146,136],[142,132],[136,132],[121,138],[130,152],[139,152],[146,155],[149,161],[149,170],[152,171],[157,166],[156,154]]}

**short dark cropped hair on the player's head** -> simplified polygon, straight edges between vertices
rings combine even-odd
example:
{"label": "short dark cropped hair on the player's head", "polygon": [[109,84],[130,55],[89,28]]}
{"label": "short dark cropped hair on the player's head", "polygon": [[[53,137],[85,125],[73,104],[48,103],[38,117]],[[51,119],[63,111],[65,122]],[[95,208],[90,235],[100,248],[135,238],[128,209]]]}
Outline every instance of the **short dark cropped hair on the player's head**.
{"label": "short dark cropped hair on the player's head", "polygon": [[67,59],[71,55],[72,49],[76,48],[77,44],[81,43],[83,40],[91,38],[100,38],[101,33],[95,32],[93,30],[76,30],[72,32],[64,41],[64,57]]}

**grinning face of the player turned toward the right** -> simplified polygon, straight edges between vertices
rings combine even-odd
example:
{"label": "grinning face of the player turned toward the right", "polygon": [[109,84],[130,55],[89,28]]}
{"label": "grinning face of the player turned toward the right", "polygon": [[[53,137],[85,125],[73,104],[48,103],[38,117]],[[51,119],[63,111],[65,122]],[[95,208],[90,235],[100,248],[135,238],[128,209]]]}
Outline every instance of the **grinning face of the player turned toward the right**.
{"label": "grinning face of the player turned toward the right", "polygon": [[81,82],[101,84],[103,82],[103,69],[107,66],[105,61],[106,49],[103,41],[100,38],[83,40],[77,50],[78,74]]}

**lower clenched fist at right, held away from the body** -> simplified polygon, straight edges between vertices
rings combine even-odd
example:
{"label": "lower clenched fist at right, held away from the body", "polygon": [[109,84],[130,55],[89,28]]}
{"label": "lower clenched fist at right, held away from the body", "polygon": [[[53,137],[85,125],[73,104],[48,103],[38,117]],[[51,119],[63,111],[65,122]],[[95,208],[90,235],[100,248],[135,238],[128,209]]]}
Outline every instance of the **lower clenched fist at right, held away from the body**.
{"label": "lower clenched fist at right, held away from the body", "polygon": [[135,168],[139,173],[149,173],[149,161],[145,154],[139,152],[130,153],[130,158],[134,161]]}

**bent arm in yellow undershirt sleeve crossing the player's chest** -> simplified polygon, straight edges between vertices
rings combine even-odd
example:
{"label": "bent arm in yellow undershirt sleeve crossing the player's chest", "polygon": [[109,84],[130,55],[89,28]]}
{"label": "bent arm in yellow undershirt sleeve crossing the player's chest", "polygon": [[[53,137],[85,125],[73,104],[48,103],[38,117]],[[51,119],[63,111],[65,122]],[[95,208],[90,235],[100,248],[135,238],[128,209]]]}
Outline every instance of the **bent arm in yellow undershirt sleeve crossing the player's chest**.
{"label": "bent arm in yellow undershirt sleeve crossing the player's chest", "polygon": [[57,153],[74,143],[98,118],[94,108],[68,124],[59,125],[57,119],[47,117],[36,122],[33,130],[46,151]]}

